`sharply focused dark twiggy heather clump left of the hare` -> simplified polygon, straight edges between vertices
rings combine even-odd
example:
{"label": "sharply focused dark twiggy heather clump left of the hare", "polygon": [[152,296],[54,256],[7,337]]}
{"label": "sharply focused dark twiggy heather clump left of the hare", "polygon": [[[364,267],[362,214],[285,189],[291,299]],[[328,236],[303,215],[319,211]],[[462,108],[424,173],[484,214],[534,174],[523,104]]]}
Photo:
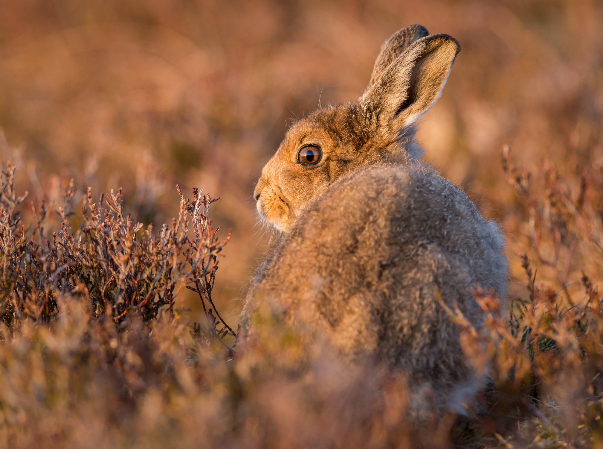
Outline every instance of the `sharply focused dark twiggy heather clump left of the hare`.
{"label": "sharply focused dark twiggy heather clump left of the hare", "polygon": [[[128,313],[138,311],[144,322],[156,319],[162,307],[174,314],[174,300],[180,289],[196,291],[212,329],[220,322],[224,331],[233,331],[214,319],[212,289],[218,270],[218,255],[230,238],[220,241],[208,217],[210,205],[218,199],[193,189],[190,203],[180,193],[180,213],[171,226],[163,225],[159,234],[153,225],[144,227],[125,214],[121,189],[98,204],[93,202],[90,188],[84,196],[81,214],[71,209],[75,194],[73,180],[64,195],[64,204],[57,209],[60,228],[46,235],[45,218],[52,202],[33,208],[33,223],[21,223],[17,209],[27,192],[17,196],[14,188],[14,167],[7,164],[0,173],[0,307],[2,319],[13,328],[24,319],[49,322],[59,313],[61,296],[84,299],[93,317],[110,317],[120,324]],[[74,231],[72,221],[77,215],[80,226]],[[189,218],[190,217],[190,218]],[[189,220],[194,239],[188,236]]]}

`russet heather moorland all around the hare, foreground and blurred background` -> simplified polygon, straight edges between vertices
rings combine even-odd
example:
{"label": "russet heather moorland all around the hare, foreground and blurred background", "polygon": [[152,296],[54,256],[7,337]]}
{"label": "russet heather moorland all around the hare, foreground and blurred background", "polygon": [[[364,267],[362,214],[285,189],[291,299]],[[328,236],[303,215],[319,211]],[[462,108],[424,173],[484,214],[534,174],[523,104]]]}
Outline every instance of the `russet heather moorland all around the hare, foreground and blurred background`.
{"label": "russet heather moorland all around the hare, foreground and blurred background", "polygon": [[[450,310],[481,410],[418,429],[402,374],[270,314],[232,348],[267,247],[254,176],[413,23],[463,45],[426,159],[510,260],[509,307],[476,291],[483,330]],[[596,0],[1,2],[0,447],[603,446],[601,23]]]}

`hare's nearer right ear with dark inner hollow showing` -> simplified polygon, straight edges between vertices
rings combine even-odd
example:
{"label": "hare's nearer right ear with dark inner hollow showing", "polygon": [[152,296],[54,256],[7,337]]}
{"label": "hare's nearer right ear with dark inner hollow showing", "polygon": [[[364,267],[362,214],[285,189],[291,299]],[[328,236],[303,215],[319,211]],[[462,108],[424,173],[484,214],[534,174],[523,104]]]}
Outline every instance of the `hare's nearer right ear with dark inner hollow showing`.
{"label": "hare's nearer right ear with dark inner hollow showing", "polygon": [[360,103],[376,115],[378,127],[397,135],[440,97],[460,50],[447,34],[418,39],[369,84]]}

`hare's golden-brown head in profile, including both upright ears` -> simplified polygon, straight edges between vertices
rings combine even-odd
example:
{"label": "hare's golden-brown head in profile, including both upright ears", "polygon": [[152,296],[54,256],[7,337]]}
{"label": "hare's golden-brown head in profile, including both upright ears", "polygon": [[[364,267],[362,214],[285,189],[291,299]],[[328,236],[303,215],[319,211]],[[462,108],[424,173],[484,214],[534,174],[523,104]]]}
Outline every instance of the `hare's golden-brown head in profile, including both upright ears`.
{"label": "hare's golden-brown head in profile, including both upright ears", "polygon": [[286,231],[303,206],[350,171],[420,158],[414,123],[440,96],[459,43],[411,25],[390,37],[355,103],[299,119],[262,170],[257,211]]}

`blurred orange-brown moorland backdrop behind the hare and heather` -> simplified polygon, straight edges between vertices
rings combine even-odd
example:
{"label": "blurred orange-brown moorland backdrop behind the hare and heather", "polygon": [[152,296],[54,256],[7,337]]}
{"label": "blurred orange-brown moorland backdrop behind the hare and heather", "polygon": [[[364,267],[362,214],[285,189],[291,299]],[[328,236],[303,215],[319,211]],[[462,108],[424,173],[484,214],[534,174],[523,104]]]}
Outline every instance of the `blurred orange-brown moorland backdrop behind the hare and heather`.
{"label": "blurred orange-brown moorland backdrop behind the hare and heather", "polygon": [[144,223],[177,214],[176,183],[221,197],[213,221],[233,235],[214,297],[236,322],[270,240],[254,227],[262,166],[295,116],[356,100],[410,24],[463,45],[419,139],[503,224],[516,278],[500,151],[535,173],[603,167],[600,0],[3,1],[0,159],[34,202],[74,177],[95,197],[121,186]]}

